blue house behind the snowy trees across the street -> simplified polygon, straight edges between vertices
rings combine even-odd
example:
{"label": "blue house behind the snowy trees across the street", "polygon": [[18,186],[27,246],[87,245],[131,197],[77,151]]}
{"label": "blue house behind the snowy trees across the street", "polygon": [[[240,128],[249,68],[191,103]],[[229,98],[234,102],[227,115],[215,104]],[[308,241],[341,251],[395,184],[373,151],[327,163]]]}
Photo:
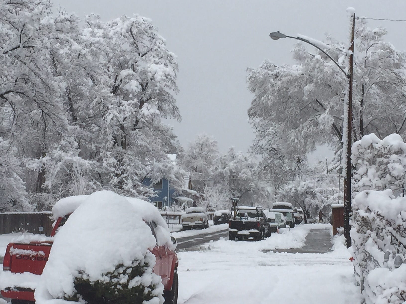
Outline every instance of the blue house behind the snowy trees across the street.
{"label": "blue house behind the snowy trees across the street", "polygon": [[[146,186],[151,185],[151,179],[145,178],[143,184]],[[158,209],[163,209],[165,206],[172,207],[173,205],[182,206],[186,203],[187,206],[192,206],[193,199],[190,197],[197,195],[196,191],[191,191],[188,189],[182,189],[181,195],[187,196],[175,196],[175,189],[171,187],[171,183],[166,178],[162,178],[159,182],[153,185],[153,191],[155,193],[154,197],[150,197],[151,203]]]}

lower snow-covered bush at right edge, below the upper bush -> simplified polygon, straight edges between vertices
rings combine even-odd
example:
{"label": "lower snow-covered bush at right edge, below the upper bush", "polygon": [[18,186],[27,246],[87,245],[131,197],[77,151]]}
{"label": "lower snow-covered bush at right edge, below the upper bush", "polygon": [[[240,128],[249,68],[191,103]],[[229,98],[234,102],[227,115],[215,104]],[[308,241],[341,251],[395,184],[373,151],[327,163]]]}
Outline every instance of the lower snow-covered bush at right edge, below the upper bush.
{"label": "lower snow-covered bush at right edge, below the upper bush", "polygon": [[402,261],[406,257],[406,198],[393,196],[391,189],[366,190],[355,196],[352,212],[354,272],[365,302],[403,303],[405,265],[396,269],[394,260],[396,256]]}

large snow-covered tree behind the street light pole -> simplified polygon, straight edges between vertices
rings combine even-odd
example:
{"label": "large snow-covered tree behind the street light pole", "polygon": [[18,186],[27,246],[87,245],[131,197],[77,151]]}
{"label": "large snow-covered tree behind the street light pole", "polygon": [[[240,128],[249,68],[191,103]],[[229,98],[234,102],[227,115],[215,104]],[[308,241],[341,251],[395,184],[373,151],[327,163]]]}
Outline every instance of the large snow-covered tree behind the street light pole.
{"label": "large snow-covered tree behind the street light pole", "polygon": [[[355,25],[353,117],[354,141],[368,133],[384,137],[406,133],[406,56],[384,41],[386,30]],[[347,43],[326,36],[325,51],[346,69]],[[309,47],[310,49],[310,47]],[[348,80],[327,56],[298,43],[294,65],[266,60],[249,69],[254,94],[248,117],[256,134],[253,150],[268,172],[288,172],[294,160],[319,143],[341,147],[343,103]],[[273,170],[273,169],[277,170]]]}

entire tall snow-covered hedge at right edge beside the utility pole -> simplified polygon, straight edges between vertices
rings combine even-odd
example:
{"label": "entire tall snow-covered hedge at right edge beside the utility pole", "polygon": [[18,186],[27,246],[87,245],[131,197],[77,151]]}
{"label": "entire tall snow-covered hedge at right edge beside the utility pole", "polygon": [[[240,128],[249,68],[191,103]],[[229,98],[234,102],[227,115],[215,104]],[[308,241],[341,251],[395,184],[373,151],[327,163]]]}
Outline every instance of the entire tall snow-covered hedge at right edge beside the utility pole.
{"label": "entire tall snow-covered hedge at right edge beside the utility pole", "polygon": [[[364,136],[352,145],[351,238],[354,272],[368,304],[406,300],[406,143],[400,135]],[[387,259],[384,258],[387,252]],[[398,265],[399,266],[399,265]]]}

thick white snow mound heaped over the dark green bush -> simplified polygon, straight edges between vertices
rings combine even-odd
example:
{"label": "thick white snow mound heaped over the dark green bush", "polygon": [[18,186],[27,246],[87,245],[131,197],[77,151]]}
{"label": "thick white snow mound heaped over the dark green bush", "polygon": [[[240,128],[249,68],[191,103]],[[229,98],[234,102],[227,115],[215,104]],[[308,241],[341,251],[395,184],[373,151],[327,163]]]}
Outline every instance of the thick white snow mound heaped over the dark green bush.
{"label": "thick white snow mound heaped over the dark green bush", "polygon": [[[155,256],[149,253],[149,249],[155,247],[155,238],[145,221],[155,221],[161,226],[158,245],[172,244],[162,216],[151,203],[110,191],[96,192],[73,201],[71,204],[65,199],[69,206],[76,204],[76,210],[56,233],[35,291],[37,303],[65,302],[51,299],[72,295],[73,280],[80,271],[93,281],[105,280],[103,274],[112,272],[119,263],[130,265],[134,259],[144,261],[145,256],[147,262],[155,265]],[[63,202],[59,205],[60,210],[68,210],[64,209]],[[144,276],[141,284],[145,286],[148,281],[161,280],[153,273]]]}

